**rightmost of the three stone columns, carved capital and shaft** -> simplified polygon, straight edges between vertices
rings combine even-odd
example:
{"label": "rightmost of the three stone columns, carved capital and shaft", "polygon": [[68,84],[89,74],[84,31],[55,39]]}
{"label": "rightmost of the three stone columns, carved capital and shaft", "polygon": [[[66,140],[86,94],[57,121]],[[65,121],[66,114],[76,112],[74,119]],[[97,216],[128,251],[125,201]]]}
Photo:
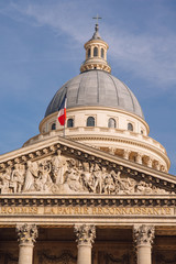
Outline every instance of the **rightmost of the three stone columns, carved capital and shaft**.
{"label": "rightmost of the three stone columns, carved capital and shaft", "polygon": [[133,235],[136,249],[138,264],[151,264],[154,227],[145,224],[134,226]]}

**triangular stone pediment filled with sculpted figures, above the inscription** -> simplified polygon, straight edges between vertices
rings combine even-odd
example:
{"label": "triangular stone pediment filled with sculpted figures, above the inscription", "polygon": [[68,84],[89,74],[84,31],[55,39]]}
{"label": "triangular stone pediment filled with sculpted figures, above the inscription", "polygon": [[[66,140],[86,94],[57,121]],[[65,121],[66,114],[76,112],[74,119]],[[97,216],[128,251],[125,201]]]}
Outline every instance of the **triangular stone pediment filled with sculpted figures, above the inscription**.
{"label": "triangular stone pediment filled with sculpted figures, above the inscription", "polygon": [[175,195],[174,176],[63,138],[0,157],[0,193]]}

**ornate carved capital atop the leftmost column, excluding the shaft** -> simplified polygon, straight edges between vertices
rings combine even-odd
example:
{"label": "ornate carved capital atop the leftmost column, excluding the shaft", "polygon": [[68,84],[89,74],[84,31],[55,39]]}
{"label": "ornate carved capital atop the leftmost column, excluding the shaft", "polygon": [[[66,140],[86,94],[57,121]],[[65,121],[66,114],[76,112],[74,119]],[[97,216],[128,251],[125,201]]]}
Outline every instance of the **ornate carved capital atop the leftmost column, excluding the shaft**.
{"label": "ornate carved capital atop the leftmost column, excluding the shaft", "polygon": [[33,244],[37,238],[35,224],[16,224],[16,232],[20,244]]}

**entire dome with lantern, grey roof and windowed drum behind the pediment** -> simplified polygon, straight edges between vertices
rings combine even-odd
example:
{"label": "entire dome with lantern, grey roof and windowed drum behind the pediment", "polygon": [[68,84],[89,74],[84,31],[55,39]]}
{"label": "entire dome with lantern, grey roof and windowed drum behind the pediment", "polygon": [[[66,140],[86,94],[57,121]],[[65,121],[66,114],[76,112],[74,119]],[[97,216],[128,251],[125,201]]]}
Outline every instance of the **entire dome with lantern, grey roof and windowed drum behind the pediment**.
{"label": "entire dome with lantern, grey roof and windowed drum behind the pediment", "polygon": [[[57,90],[40,123],[40,134],[25,142],[24,146],[61,135],[153,169],[168,172],[170,162],[166,150],[148,136],[150,128],[136,97],[111,75],[108,48],[96,24],[92,37],[85,44],[86,59],[80,74]],[[64,128],[57,121],[57,114],[65,96],[67,120]]]}

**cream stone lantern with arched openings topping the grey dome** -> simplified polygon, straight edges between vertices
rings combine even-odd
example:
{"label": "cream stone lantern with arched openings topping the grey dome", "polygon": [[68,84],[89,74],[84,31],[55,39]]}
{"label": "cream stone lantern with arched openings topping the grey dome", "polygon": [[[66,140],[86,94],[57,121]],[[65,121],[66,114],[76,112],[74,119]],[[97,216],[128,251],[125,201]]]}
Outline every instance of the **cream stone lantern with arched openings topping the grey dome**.
{"label": "cream stone lantern with arched openings topping the grey dome", "polygon": [[92,37],[85,44],[86,61],[80,66],[80,73],[90,69],[101,69],[111,73],[111,67],[107,63],[108,48],[108,44],[102,41],[99,34],[99,24],[97,22]]}

